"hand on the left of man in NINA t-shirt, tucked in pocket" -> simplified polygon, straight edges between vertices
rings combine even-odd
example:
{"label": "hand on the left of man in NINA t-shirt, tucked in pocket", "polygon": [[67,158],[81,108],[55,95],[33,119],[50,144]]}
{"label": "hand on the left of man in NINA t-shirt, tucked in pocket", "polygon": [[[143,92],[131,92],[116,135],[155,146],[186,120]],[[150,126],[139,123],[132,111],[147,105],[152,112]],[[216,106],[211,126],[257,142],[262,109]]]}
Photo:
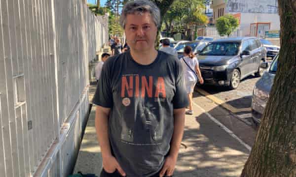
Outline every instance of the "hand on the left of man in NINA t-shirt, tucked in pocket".
{"label": "hand on the left of man in NINA t-shirt, tucked in pocket", "polygon": [[117,160],[113,156],[103,158],[103,168],[107,173],[114,173],[117,169],[121,176],[126,176],[125,172],[122,170]]}

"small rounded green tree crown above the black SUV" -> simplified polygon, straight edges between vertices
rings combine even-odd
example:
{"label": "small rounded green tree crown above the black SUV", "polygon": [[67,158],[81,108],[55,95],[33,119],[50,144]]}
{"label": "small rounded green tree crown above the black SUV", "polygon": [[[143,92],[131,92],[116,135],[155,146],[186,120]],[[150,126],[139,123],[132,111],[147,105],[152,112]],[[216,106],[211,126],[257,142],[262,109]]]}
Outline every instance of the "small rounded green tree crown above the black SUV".
{"label": "small rounded green tree crown above the black SUV", "polygon": [[216,21],[216,28],[221,36],[229,35],[239,26],[238,19],[230,14],[219,17]]}

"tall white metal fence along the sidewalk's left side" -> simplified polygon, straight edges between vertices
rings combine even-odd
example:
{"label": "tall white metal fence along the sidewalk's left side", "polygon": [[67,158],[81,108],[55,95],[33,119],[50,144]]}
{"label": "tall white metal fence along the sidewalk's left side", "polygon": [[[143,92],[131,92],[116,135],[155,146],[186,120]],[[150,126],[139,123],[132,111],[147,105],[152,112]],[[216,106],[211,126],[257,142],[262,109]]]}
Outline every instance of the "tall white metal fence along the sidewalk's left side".
{"label": "tall white metal fence along the sidewalk's left side", "polygon": [[0,0],[1,177],[66,177],[108,17],[86,0]]}

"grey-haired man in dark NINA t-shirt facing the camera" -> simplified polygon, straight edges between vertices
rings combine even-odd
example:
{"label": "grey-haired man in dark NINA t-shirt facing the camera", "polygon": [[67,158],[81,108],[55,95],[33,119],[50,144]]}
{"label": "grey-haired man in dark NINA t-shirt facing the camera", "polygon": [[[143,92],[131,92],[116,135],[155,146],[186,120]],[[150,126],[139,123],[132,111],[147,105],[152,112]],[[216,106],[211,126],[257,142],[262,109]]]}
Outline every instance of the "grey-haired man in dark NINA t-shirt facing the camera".
{"label": "grey-haired man in dark NINA t-shirt facing the camera", "polygon": [[151,1],[126,3],[120,24],[130,50],[105,62],[93,99],[100,177],[169,177],[188,105],[182,64],[154,48],[160,12]]}

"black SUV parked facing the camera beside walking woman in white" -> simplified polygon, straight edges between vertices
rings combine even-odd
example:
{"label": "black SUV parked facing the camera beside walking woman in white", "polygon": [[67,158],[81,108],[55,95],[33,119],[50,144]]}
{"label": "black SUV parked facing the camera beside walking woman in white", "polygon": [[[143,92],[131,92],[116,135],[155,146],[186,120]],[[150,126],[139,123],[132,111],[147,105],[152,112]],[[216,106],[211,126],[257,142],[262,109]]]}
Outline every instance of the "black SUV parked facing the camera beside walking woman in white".
{"label": "black SUV parked facing the camera beside walking woman in white", "polygon": [[266,50],[256,37],[218,39],[199,52],[198,61],[205,84],[236,89],[240,80],[264,72]]}

